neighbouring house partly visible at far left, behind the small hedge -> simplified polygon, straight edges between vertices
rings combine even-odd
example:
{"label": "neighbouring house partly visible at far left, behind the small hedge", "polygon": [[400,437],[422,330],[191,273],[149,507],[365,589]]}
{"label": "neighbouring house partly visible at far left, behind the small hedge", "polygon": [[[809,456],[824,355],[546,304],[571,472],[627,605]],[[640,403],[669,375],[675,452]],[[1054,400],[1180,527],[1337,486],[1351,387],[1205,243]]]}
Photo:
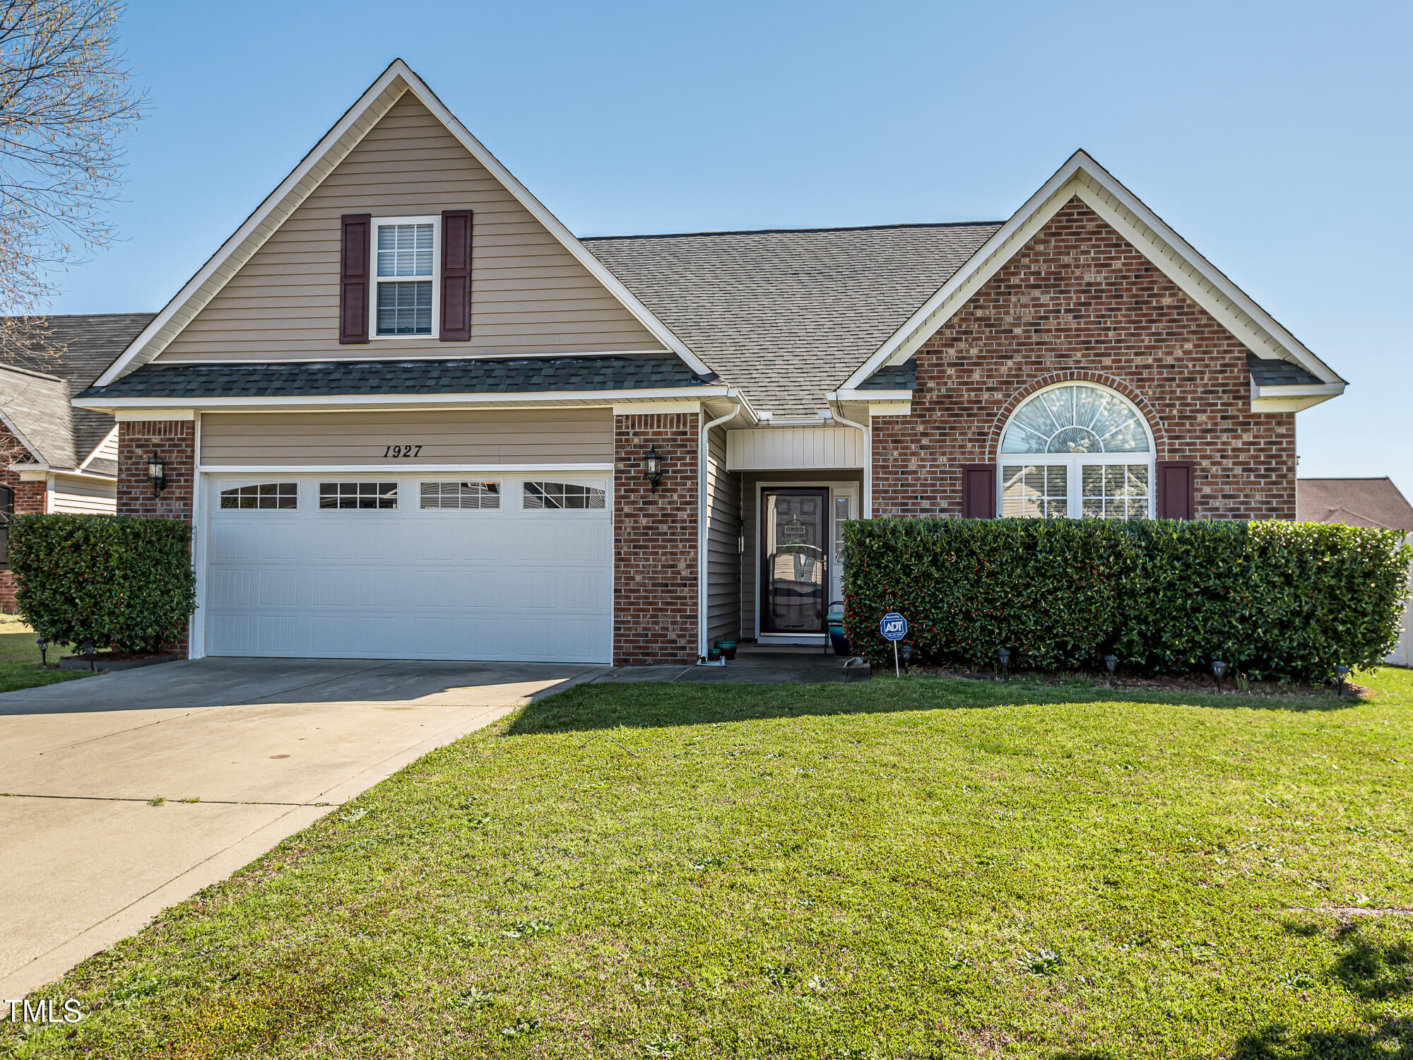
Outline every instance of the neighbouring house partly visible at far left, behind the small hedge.
{"label": "neighbouring house partly visible at far left, behind the small hedge", "polygon": [[42,342],[0,359],[0,611],[14,611],[10,516],[112,514],[117,497],[117,423],[72,408],[72,394],[151,322],[150,312],[47,317]]}

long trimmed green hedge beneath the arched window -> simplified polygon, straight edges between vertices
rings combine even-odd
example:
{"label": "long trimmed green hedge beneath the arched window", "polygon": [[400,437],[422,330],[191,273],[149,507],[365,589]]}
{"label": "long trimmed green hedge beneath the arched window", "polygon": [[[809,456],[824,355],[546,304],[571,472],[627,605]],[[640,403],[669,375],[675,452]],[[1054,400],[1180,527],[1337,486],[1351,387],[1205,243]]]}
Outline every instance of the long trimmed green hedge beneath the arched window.
{"label": "long trimmed green hedge beneath the arched window", "polygon": [[1399,635],[1410,550],[1397,530],[1328,523],[869,519],[845,523],[845,629],[892,664],[897,611],[933,663],[1099,667],[1321,681]]}

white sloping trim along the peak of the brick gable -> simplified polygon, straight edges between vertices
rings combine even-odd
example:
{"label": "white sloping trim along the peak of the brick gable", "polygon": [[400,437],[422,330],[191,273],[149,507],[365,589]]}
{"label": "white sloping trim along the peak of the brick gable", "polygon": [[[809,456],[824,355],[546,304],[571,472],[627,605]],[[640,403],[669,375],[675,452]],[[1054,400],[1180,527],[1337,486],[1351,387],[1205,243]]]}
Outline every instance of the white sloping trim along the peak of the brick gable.
{"label": "white sloping trim along the peak of the brick gable", "polygon": [[1040,191],[988,239],[966,264],[942,284],[873,355],[839,387],[853,390],[885,365],[901,365],[945,324],[1006,261],[1048,220],[1078,196],[1128,239],[1184,294],[1210,312],[1256,356],[1290,360],[1324,383],[1344,380],[1249,295],[1226,278],[1187,240],[1108,170],[1084,151],[1075,151]]}

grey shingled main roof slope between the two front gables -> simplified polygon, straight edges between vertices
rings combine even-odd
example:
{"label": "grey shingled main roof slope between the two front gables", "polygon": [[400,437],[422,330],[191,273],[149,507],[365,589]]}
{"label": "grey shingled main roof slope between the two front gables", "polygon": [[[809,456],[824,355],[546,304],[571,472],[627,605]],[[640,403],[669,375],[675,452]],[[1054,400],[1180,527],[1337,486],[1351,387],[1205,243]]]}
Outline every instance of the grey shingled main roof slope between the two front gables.
{"label": "grey shingled main roof slope between the two front gables", "polygon": [[695,232],[584,245],[759,411],[808,416],[999,228]]}

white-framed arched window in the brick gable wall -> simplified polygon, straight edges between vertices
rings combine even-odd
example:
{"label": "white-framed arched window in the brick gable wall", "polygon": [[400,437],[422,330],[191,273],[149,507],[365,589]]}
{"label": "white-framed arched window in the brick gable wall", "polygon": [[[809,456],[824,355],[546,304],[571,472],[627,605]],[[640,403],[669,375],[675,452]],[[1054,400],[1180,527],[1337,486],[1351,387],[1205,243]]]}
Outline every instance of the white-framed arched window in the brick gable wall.
{"label": "white-framed arched window in the brick gable wall", "polygon": [[1061,383],[1039,391],[1006,424],[999,458],[1002,516],[1153,516],[1153,440],[1113,390]]}

